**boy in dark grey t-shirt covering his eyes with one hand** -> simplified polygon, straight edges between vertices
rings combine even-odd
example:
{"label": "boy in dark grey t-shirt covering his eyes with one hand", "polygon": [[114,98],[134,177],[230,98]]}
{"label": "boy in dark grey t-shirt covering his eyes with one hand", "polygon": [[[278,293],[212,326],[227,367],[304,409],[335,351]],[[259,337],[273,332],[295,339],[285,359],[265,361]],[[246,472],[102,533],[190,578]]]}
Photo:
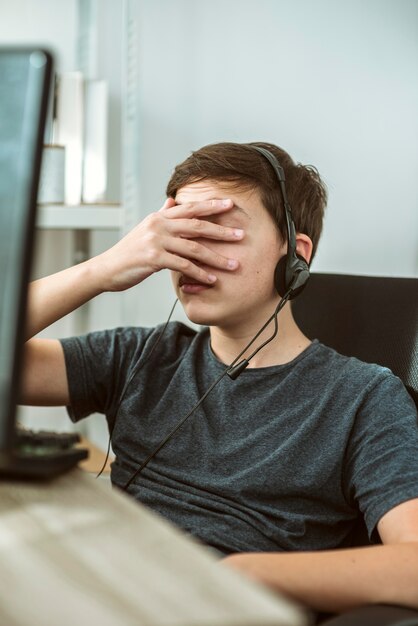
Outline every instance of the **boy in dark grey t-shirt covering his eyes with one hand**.
{"label": "boy in dark grey t-shirt covering his eyes with one hand", "polygon": [[[288,250],[282,191],[259,148],[284,170],[296,253],[311,262],[326,203],[316,170],[271,144],[206,146],[176,168],[160,211],[105,253],[32,285],[28,334],[166,268],[188,318],[205,328],[32,339],[24,402],[67,405],[74,420],[104,413],[113,483],[231,567],[320,611],[418,608],[418,429],[401,382],[311,341],[290,303],[245,371],[222,376],[271,337],[273,323],[246,349],[286,291],[283,277],[284,288],[273,280]],[[359,516],[383,545],[349,547]]]}

